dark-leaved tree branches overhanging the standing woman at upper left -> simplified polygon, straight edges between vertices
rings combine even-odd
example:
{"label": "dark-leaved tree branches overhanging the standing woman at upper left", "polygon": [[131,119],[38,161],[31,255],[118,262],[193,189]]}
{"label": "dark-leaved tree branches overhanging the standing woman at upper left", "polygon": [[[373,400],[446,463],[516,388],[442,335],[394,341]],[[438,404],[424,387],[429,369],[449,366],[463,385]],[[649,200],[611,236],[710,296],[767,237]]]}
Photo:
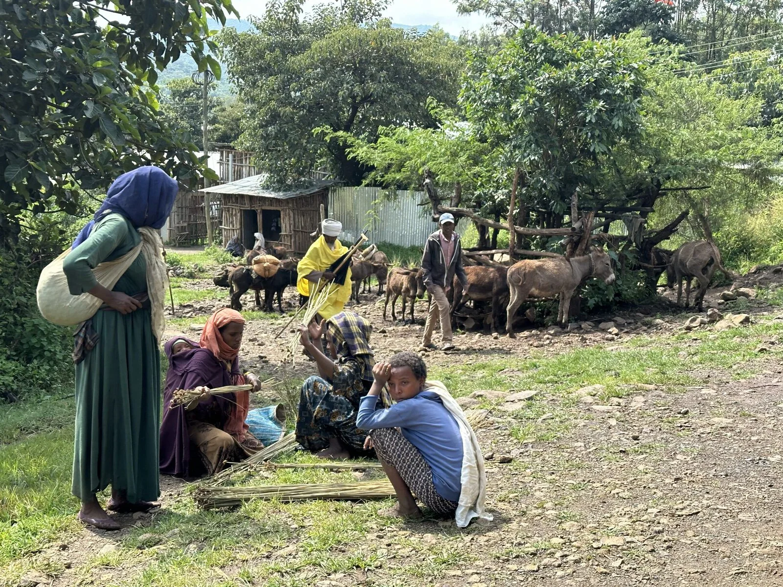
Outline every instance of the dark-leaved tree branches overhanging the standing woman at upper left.
{"label": "dark-leaved tree branches overhanging the standing woman at upper left", "polygon": [[193,145],[158,113],[157,71],[208,52],[207,16],[230,0],[0,0],[0,237],[14,239],[23,211],[78,210],[80,189],[159,164],[195,179]]}

